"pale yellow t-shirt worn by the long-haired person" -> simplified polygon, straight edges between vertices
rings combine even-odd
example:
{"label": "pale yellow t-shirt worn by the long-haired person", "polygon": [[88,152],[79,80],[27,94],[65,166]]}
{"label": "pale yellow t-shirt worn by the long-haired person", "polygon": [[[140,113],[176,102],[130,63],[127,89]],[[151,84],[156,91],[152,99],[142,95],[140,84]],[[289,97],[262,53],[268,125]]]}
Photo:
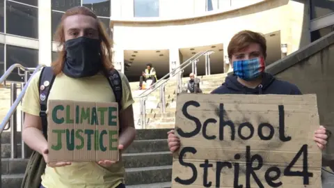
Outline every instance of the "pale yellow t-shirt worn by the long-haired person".
{"label": "pale yellow t-shirt worn by the long-haired person", "polygon": [[[134,103],[129,81],[120,72],[122,79],[122,109]],[[40,72],[31,78],[22,101],[22,111],[35,116],[40,114],[38,81]],[[86,102],[116,102],[109,81],[101,74],[74,79],[64,74],[54,80],[49,100],[76,100]],[[47,188],[114,188],[124,182],[125,169],[122,162],[106,169],[96,162],[75,162],[69,166],[45,169],[42,185]]]}

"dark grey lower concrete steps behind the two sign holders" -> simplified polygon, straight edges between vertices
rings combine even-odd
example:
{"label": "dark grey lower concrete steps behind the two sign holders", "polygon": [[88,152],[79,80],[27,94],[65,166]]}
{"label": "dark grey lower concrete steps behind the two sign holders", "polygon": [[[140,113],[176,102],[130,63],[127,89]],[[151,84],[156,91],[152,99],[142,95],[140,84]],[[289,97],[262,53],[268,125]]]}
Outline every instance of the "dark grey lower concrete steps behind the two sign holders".
{"label": "dark grey lower concrete steps behind the two sign holders", "polygon": [[[136,140],[122,154],[125,164],[126,185],[136,187],[168,187],[171,180],[173,157],[168,151],[169,129],[138,130]],[[20,187],[29,159],[9,159],[10,132],[1,136],[1,183],[2,187]],[[21,134],[17,132],[17,143]],[[17,154],[21,156],[20,144]]]}

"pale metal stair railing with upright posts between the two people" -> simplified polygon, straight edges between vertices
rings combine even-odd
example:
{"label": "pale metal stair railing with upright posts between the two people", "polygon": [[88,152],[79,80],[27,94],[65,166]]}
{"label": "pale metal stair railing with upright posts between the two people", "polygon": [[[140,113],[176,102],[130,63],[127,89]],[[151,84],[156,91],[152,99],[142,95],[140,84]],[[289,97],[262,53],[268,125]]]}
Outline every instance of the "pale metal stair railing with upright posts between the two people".
{"label": "pale metal stair railing with upright posts between the two people", "polygon": [[[177,93],[181,93],[182,92],[182,75],[184,72],[184,69],[189,67],[189,65],[191,65],[191,69],[192,71],[195,73],[195,75],[197,75],[197,62],[199,61],[199,58],[201,56],[205,56],[205,73],[206,75],[209,73],[209,70],[207,70],[210,65],[208,60],[208,56],[210,54],[212,54],[213,51],[212,50],[207,50],[205,52],[198,52],[197,54],[195,54],[194,56],[192,56],[191,58],[189,58],[188,60],[184,61],[181,65],[179,65],[177,68],[175,68],[173,71],[169,72],[167,75],[165,75],[164,77],[162,77],[161,79],[159,79],[159,81],[157,81],[156,83],[154,83],[152,86],[150,86],[150,88],[146,89],[145,91],[143,91],[143,93],[141,93],[140,95],[138,95],[139,98],[139,102],[140,102],[140,124],[142,129],[146,128],[146,100],[148,99],[148,95],[150,95],[150,93],[152,93],[153,91],[156,91],[157,88],[159,88],[159,104],[160,104],[160,112],[161,113],[165,113],[166,111],[166,84],[167,82],[170,80],[171,77],[174,77],[175,75],[177,76],[177,84],[176,84],[176,92]],[[210,74],[210,73],[209,73]]]}

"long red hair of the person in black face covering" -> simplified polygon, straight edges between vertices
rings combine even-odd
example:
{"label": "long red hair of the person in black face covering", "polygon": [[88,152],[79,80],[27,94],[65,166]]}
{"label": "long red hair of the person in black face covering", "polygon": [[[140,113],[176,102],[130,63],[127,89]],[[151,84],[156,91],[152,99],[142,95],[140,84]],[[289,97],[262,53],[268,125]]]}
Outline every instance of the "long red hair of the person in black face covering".
{"label": "long red hair of the person in black face covering", "polygon": [[111,53],[111,40],[106,34],[106,29],[104,28],[102,22],[97,18],[97,16],[89,9],[84,6],[77,6],[74,8],[70,8],[65,12],[63,17],[61,17],[61,23],[58,25],[58,28],[55,33],[55,40],[58,42],[58,48],[61,48],[61,51],[58,52],[58,58],[56,61],[51,63],[52,68],[54,69],[54,74],[58,75],[62,72],[64,68],[66,51],[63,45],[65,44],[65,31],[64,31],[64,20],[66,17],[71,15],[87,15],[93,17],[97,22],[97,31],[99,32],[100,40],[101,40],[101,56],[102,56],[102,64],[106,70],[110,70],[113,68],[112,53]]}

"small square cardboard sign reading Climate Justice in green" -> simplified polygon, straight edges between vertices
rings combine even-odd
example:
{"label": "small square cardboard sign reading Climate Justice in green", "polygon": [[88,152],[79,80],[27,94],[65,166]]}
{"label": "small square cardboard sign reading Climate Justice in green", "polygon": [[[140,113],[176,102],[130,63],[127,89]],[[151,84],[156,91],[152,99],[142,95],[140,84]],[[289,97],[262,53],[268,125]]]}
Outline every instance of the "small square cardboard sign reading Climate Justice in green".
{"label": "small square cardboard sign reading Climate Justice in green", "polygon": [[49,162],[118,161],[118,104],[49,100]]}

